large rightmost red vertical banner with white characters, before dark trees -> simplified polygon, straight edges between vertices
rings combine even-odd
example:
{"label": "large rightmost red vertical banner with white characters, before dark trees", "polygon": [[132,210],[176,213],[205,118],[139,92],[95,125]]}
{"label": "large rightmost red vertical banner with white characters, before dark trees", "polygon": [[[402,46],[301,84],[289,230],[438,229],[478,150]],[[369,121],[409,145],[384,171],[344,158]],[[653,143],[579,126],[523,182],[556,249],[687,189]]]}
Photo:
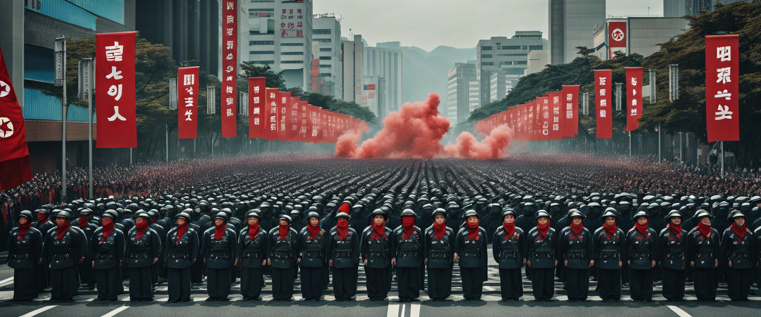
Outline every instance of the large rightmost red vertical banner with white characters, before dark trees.
{"label": "large rightmost red vertical banner with white characters, before dark trees", "polygon": [[737,34],[705,36],[705,128],[708,142],[740,141]]}

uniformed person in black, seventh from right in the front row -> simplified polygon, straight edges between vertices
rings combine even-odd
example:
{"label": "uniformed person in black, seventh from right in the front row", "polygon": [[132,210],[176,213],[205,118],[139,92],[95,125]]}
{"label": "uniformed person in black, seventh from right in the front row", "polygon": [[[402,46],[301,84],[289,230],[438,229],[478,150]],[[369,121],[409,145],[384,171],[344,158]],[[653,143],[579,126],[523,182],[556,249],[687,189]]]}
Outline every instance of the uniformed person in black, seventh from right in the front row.
{"label": "uniformed person in black, seventh from right in the front row", "polygon": [[531,289],[534,301],[552,301],[555,295],[555,281],[552,277],[558,260],[555,255],[555,229],[550,225],[546,211],[538,211],[533,227],[526,235],[526,265],[531,267]]}

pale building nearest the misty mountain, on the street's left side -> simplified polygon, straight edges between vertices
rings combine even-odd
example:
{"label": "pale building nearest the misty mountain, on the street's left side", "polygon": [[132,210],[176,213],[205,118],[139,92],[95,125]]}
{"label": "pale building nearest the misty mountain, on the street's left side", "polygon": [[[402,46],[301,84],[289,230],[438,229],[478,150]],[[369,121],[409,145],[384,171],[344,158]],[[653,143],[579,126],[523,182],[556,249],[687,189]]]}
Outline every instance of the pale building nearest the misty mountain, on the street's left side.
{"label": "pale building nearest the misty mountain, on the street's left side", "polygon": [[402,106],[402,51],[380,47],[365,47],[365,75],[386,80],[382,113],[396,111]]}

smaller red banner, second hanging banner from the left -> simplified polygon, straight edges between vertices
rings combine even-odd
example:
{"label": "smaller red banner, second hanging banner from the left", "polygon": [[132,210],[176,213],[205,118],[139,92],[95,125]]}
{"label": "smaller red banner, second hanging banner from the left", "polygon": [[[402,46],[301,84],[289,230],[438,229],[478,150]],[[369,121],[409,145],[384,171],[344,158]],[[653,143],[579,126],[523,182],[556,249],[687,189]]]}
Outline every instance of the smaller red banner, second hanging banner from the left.
{"label": "smaller red banner, second hanging banner from the left", "polygon": [[177,68],[177,138],[198,132],[198,66]]}

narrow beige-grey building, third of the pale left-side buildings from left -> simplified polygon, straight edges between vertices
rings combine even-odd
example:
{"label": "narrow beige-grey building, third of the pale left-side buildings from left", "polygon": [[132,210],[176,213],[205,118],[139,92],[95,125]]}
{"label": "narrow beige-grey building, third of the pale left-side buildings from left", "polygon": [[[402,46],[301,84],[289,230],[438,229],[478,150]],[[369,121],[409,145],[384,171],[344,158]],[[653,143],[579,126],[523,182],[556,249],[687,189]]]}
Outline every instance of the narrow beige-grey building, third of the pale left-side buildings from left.
{"label": "narrow beige-grey building, third of the pale left-side buildings from left", "polygon": [[355,35],[354,40],[343,42],[343,100],[362,103],[364,90],[365,68],[364,55],[365,45],[362,44],[362,36]]}

